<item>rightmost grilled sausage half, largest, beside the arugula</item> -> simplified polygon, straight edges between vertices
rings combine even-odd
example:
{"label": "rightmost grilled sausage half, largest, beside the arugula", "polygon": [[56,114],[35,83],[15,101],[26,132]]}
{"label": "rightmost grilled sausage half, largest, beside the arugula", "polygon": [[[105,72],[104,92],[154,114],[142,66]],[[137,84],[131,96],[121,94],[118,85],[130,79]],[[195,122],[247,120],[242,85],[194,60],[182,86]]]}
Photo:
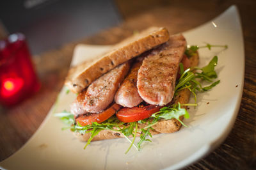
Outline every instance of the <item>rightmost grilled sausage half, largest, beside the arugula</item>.
{"label": "rightmost grilled sausage half, largest, beside the arugula", "polygon": [[153,105],[171,102],[179,63],[185,49],[184,36],[170,36],[167,43],[152,50],[143,60],[138,72],[137,87],[140,97],[145,102]]}

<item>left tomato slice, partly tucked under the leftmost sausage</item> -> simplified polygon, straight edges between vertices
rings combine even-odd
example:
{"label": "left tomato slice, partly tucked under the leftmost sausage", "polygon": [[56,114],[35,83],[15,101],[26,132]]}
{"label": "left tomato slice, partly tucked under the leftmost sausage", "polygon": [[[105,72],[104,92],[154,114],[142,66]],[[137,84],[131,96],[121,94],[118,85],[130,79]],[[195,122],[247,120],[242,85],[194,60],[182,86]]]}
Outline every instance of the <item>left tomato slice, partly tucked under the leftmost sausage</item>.
{"label": "left tomato slice, partly tucked under the leftmost sausage", "polygon": [[119,109],[121,109],[121,105],[113,104],[111,107],[106,109],[103,112],[99,113],[91,113],[90,115],[80,115],[76,118],[76,121],[79,122],[80,125],[86,126],[86,125],[92,125],[93,122],[101,123],[105,120],[108,120],[113,114],[115,114]]}

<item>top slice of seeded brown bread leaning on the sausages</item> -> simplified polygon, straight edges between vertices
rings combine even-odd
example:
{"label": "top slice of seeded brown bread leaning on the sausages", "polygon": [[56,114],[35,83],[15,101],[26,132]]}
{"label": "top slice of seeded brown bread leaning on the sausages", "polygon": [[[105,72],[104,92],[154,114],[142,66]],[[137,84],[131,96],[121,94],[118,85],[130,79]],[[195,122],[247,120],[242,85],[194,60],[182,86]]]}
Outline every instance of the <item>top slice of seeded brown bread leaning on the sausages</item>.
{"label": "top slice of seeded brown bread leaning on the sausages", "polygon": [[150,27],[140,34],[131,36],[116,44],[108,53],[96,61],[71,68],[65,84],[79,93],[102,74],[169,40],[168,30],[164,27]]}

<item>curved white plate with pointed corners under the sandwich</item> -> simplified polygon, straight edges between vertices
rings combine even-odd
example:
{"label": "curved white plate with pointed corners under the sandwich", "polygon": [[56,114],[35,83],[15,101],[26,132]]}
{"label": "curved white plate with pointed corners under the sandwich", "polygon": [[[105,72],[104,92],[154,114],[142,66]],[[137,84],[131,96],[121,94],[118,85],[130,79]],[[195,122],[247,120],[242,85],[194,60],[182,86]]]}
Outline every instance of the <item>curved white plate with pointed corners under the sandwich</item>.
{"label": "curved white plate with pointed corners under the sandwich", "polygon": [[[189,110],[191,118],[173,134],[155,135],[140,152],[133,148],[124,154],[126,139],[96,141],[83,150],[63,123],[52,116],[51,109],[44,123],[17,153],[0,163],[6,169],[177,169],[202,158],[219,146],[230,132],[241,102],[244,82],[244,45],[236,6],[206,24],[184,33],[191,45],[227,44],[228,49],[200,49],[200,66],[218,54],[216,67],[221,83],[198,95],[199,106]],[[72,65],[108,50],[109,47],[79,45]],[[86,52],[84,52],[86,51]],[[83,55],[81,55],[83,54]],[[238,87],[236,87],[238,85]],[[76,95],[60,93],[56,112],[69,110]],[[192,101],[193,102],[193,101]],[[209,102],[209,104],[207,104]]]}

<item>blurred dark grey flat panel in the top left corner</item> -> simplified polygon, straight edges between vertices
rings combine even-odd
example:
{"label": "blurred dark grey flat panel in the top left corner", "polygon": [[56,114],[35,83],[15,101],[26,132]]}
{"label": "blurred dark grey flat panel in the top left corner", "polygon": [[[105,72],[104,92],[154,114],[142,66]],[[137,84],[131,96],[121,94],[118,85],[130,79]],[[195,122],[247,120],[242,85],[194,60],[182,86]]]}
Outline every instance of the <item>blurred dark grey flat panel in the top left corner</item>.
{"label": "blurred dark grey flat panel in the top left corner", "polygon": [[8,33],[24,33],[31,52],[39,54],[122,19],[111,0],[13,0],[1,2],[0,20]]}

